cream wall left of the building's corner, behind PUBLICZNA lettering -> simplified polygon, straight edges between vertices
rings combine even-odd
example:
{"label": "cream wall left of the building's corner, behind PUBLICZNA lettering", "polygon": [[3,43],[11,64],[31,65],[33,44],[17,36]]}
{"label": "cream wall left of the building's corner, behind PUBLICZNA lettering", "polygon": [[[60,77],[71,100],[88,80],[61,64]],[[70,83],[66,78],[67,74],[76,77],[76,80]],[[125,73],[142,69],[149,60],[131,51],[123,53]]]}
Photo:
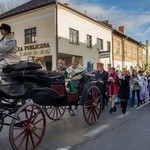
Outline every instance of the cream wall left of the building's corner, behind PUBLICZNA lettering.
{"label": "cream wall left of the building's corner, behind PUBLICZNA lettering", "polygon": [[[12,32],[14,32],[15,38],[17,39],[17,46],[24,47],[30,45],[36,45],[41,43],[49,43],[50,53],[36,54],[37,57],[43,56],[56,56],[56,24],[55,24],[55,8],[47,7],[45,9],[38,9],[34,11],[29,11],[24,14],[16,15],[14,17],[9,17],[1,20],[0,23],[8,23],[12,27]],[[25,29],[36,27],[37,29],[37,42],[25,44]],[[40,51],[42,49],[37,49]],[[29,51],[28,51],[29,52]],[[20,52],[19,52],[20,53]],[[31,50],[32,53],[32,50]],[[29,55],[22,55],[21,59],[26,60]],[[56,66],[56,59],[52,57],[53,68]]]}

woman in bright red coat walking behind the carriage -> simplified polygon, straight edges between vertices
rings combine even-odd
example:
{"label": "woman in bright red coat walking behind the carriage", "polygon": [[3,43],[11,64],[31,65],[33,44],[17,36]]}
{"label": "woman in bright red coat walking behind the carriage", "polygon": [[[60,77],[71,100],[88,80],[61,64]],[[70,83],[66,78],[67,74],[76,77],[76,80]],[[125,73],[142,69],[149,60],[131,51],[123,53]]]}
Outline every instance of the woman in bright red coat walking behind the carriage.
{"label": "woman in bright red coat walking behind the carriage", "polygon": [[112,67],[110,73],[108,74],[108,94],[111,99],[110,113],[116,111],[115,98],[116,95],[118,94],[117,78],[118,78],[118,74],[115,71],[115,68]]}

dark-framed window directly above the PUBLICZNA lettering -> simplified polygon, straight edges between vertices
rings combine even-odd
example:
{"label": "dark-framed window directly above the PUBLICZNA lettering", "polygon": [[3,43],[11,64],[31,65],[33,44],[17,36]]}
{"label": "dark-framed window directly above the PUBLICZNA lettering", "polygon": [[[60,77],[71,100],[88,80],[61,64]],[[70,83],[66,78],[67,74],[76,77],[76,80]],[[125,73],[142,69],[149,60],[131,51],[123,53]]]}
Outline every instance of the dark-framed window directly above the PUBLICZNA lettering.
{"label": "dark-framed window directly above the PUBLICZNA lettering", "polygon": [[36,42],[36,28],[30,28],[25,30],[25,43]]}

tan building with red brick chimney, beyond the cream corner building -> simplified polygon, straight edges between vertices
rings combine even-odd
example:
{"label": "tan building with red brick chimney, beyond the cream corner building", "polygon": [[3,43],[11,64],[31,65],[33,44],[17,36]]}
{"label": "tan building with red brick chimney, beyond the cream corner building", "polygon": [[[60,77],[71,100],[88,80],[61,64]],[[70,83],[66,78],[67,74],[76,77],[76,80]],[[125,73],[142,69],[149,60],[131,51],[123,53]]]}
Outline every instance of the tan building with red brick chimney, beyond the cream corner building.
{"label": "tan building with red brick chimney, beyond the cream corner building", "polygon": [[118,70],[126,67],[132,70],[147,63],[145,46],[124,34],[124,27],[113,30],[112,62]]}

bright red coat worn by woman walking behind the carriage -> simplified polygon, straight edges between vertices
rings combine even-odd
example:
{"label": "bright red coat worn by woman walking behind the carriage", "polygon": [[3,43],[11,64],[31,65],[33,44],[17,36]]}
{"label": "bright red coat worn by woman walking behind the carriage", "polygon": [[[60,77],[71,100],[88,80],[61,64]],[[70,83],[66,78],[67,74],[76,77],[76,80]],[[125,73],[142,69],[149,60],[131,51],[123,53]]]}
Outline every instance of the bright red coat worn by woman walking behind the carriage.
{"label": "bright red coat worn by woman walking behind the carriage", "polygon": [[108,74],[108,93],[110,96],[118,94],[117,78],[118,78],[117,73],[114,73],[114,74],[109,73]]}

